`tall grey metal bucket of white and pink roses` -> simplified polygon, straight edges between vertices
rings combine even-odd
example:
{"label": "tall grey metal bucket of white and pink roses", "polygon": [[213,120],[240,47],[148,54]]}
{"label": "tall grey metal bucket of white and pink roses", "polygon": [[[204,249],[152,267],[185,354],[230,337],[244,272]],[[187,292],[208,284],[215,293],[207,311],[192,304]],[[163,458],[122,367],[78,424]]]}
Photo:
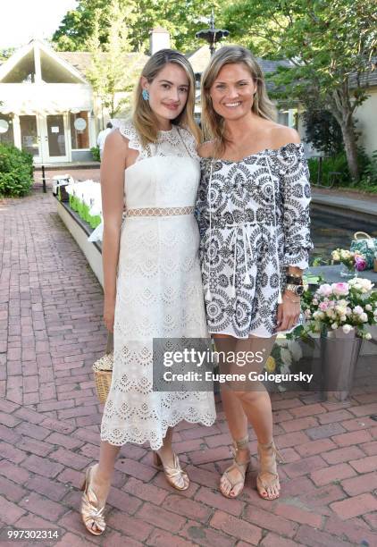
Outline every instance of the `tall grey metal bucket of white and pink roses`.
{"label": "tall grey metal bucket of white and pink roses", "polygon": [[[320,336],[323,391],[338,400],[348,398],[368,325],[377,324],[377,292],[368,279],[323,283],[314,293],[305,291],[306,334]],[[328,395],[328,398],[330,396]]]}

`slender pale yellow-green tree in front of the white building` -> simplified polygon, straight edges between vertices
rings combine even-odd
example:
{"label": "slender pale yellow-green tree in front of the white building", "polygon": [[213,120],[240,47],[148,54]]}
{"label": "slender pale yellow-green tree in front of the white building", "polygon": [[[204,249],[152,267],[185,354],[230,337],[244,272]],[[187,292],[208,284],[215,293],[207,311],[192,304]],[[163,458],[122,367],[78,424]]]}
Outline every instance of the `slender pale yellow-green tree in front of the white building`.
{"label": "slender pale yellow-green tree in front of the white building", "polygon": [[[113,117],[128,101],[139,71],[141,55],[127,56],[130,53],[129,27],[124,22],[119,0],[108,4],[108,37],[105,44],[101,43],[100,38],[100,16],[99,10],[94,13],[93,34],[87,42],[88,51],[92,54],[87,77],[96,97]],[[127,16],[131,21],[132,13],[127,13]],[[117,100],[120,93],[125,97]]]}

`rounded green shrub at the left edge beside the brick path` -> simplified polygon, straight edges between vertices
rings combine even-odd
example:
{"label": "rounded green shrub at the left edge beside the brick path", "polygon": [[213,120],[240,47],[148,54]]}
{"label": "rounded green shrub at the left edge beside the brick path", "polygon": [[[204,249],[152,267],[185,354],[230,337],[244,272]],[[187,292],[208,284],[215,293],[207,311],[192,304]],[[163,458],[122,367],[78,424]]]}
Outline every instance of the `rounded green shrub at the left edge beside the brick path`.
{"label": "rounded green shrub at the left edge beside the brick path", "polygon": [[0,144],[0,195],[19,197],[33,183],[33,156],[8,144]]}

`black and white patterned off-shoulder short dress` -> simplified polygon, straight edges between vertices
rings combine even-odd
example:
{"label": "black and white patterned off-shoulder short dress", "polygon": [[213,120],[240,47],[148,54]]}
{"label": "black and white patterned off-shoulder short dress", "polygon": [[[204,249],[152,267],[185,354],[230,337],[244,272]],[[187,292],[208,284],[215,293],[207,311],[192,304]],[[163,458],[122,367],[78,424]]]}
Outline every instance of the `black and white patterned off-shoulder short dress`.
{"label": "black and white patterned off-shoulder short dress", "polygon": [[197,193],[209,332],[269,338],[289,265],[305,269],[310,183],[290,143],[239,162],[202,158]]}

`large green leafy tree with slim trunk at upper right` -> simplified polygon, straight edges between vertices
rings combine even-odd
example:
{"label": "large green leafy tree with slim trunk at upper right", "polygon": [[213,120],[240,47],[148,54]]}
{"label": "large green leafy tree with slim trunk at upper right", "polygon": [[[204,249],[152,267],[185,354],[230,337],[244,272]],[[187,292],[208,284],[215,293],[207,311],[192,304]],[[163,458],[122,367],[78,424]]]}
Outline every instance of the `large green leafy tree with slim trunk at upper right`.
{"label": "large green leafy tree with slim trunk at upper right", "polygon": [[256,55],[291,61],[272,77],[273,95],[331,112],[358,181],[354,113],[367,97],[363,79],[375,54],[373,1],[239,0],[225,21]]}

